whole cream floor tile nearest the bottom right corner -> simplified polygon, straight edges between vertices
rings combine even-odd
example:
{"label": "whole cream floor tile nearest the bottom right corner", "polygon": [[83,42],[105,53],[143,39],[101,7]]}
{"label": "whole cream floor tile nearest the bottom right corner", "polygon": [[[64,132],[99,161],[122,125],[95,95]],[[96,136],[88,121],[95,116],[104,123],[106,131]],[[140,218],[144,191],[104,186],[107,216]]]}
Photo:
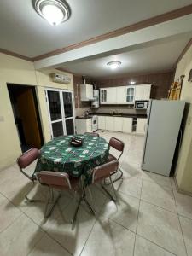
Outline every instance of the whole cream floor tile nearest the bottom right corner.
{"label": "whole cream floor tile nearest the bottom right corner", "polygon": [[179,256],[186,255],[176,214],[141,201],[137,234]]}

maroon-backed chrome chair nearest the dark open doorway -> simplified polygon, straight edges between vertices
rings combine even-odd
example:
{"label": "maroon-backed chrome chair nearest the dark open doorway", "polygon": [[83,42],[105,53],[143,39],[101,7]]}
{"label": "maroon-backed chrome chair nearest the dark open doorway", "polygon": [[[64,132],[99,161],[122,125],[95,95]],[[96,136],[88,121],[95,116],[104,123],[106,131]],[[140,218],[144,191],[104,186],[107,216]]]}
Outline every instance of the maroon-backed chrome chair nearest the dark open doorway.
{"label": "maroon-backed chrome chair nearest the dark open doorway", "polygon": [[[27,150],[24,154],[21,154],[20,157],[17,159],[17,164],[20,168],[20,172],[22,172],[32,182],[32,188],[35,184],[35,177],[29,176],[29,174],[27,174],[27,172],[25,172],[24,169],[30,164],[32,164],[34,160],[37,160],[39,155],[40,155],[40,152],[38,148],[31,148]],[[32,188],[29,189],[29,191],[26,193],[25,195],[26,200],[30,202],[39,201],[39,200],[32,200],[28,198],[27,195],[31,192]]]}

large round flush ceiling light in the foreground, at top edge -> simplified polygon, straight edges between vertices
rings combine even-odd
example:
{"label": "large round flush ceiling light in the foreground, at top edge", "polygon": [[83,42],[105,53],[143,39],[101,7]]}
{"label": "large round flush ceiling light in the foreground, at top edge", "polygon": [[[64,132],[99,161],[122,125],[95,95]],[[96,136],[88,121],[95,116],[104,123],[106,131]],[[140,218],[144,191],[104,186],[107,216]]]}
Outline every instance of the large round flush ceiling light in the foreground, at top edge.
{"label": "large round flush ceiling light in the foreground, at top edge", "polygon": [[34,9],[49,24],[55,26],[68,20],[70,9],[64,0],[34,0]]}

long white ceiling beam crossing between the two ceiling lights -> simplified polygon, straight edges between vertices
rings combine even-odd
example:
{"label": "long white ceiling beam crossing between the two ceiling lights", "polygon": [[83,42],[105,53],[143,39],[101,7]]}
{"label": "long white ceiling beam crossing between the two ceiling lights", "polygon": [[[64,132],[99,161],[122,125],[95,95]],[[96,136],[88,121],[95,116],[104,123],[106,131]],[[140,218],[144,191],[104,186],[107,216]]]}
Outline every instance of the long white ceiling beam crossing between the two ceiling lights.
{"label": "long white ceiling beam crossing between the two ceiling lights", "polygon": [[185,15],[135,32],[129,32],[115,38],[108,38],[95,44],[83,46],[79,49],[50,56],[43,60],[35,61],[34,65],[36,69],[61,67],[64,63],[71,61],[90,60],[91,58],[113,55],[118,51],[139,49],[141,44],[191,32],[191,24],[192,15]]}

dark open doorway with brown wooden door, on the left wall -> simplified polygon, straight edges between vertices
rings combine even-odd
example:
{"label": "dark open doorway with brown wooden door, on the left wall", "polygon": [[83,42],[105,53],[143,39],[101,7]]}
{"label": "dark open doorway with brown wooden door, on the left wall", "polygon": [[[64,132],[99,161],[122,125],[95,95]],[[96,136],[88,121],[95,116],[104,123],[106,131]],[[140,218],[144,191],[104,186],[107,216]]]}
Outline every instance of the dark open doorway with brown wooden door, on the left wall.
{"label": "dark open doorway with brown wooden door, on the left wall", "polygon": [[22,152],[41,148],[44,139],[35,87],[8,84],[8,90]]}

